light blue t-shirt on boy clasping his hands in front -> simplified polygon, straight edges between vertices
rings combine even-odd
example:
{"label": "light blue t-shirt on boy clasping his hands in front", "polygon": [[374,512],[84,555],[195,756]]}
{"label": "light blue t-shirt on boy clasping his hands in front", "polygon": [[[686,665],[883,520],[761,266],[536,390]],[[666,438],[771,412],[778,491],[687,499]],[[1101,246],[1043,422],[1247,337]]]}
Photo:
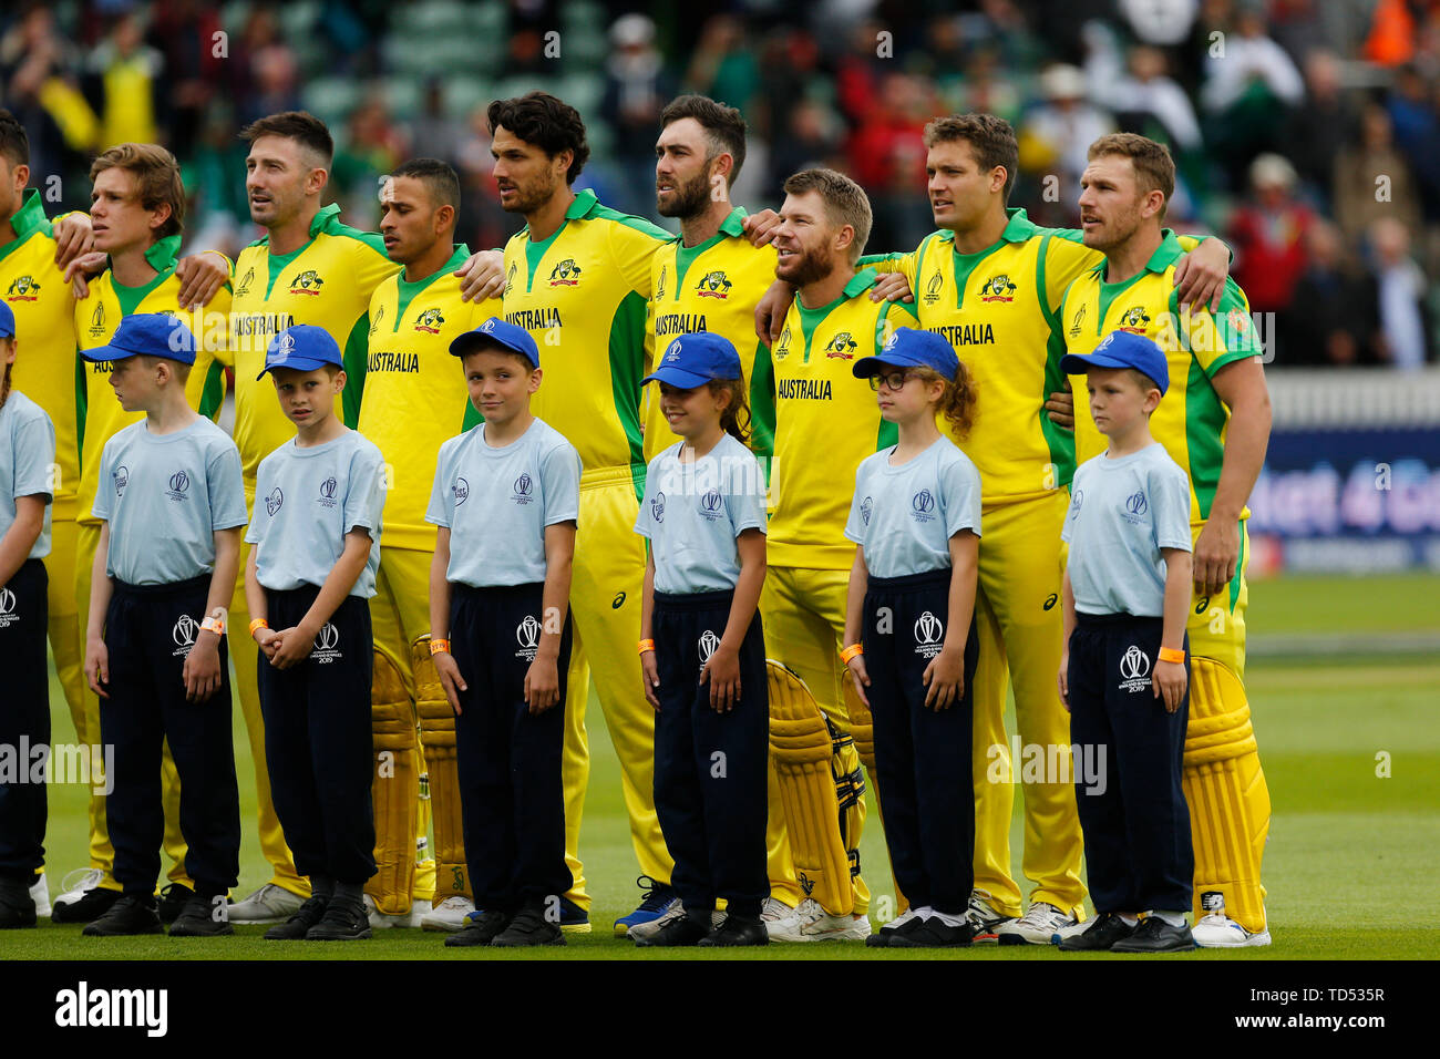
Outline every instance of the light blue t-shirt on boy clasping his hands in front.
{"label": "light blue t-shirt on boy clasping his hands in front", "polygon": [[384,457],[356,431],[300,448],[291,438],[261,460],[255,473],[255,517],[245,539],[258,545],[255,576],[272,592],[323,588],[346,550],[346,533],[370,533],[370,559],[350,595],[374,595],[380,568],[380,510]]}

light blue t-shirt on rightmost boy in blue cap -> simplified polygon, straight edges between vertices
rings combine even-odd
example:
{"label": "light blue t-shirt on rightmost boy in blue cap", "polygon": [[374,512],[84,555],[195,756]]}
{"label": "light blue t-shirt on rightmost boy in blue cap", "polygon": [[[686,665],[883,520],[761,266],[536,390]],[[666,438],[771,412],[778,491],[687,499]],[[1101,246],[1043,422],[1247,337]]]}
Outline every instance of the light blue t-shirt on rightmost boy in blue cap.
{"label": "light blue t-shirt on rightmost boy in blue cap", "polygon": [[1080,614],[1165,617],[1162,548],[1189,549],[1189,478],[1158,441],[1076,468],[1060,539]]}

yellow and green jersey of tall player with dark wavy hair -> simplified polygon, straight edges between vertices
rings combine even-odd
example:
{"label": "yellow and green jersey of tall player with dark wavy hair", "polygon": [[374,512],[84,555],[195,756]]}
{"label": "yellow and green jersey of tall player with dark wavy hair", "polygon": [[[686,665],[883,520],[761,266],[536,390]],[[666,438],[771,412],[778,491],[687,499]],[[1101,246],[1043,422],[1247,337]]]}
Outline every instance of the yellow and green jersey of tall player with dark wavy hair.
{"label": "yellow and green jersey of tall player with dark wavy hair", "polygon": [[505,320],[530,331],[544,370],[530,411],[576,447],[586,471],[629,467],[636,497],[651,256],[671,238],[585,190],[550,238],[533,242],[527,226],[505,243]]}

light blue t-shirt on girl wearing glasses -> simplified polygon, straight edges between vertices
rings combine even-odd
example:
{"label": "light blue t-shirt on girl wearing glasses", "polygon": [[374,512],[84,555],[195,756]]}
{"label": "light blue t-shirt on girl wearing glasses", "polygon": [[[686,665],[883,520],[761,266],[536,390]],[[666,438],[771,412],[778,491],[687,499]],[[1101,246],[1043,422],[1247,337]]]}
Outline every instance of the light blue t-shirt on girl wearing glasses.
{"label": "light blue t-shirt on girl wearing glasses", "polygon": [[890,465],[896,445],[855,468],[845,537],[865,549],[874,578],[950,568],[950,537],[981,533],[981,473],[953,441],[940,437],[920,455]]}

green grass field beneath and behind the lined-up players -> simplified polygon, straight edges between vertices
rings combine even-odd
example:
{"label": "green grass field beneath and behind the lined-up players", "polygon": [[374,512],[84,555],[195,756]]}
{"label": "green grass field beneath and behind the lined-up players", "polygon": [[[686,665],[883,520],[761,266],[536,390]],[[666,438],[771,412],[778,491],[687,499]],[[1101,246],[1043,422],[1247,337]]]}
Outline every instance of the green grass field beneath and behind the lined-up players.
{"label": "green grass field beneath and behind the lined-up players", "polygon": [[[1290,578],[1251,585],[1250,628],[1266,633],[1426,631],[1440,635],[1440,578]],[[1440,877],[1440,657],[1345,654],[1254,657],[1247,677],[1254,728],[1274,816],[1264,879],[1274,944],[1264,949],[1202,951],[1194,960],[1381,960],[1440,957],[1440,924],[1417,918]],[[63,699],[52,687],[55,739],[72,736]],[[239,718],[236,716],[236,722]],[[37,931],[0,934],[4,960],[409,960],[409,958],[704,958],[700,951],[635,949],[611,937],[611,922],[634,908],[635,860],[624,818],[619,771],[592,702],[592,777],[580,854],[595,905],[595,932],[570,935],[567,948],[446,949],[441,935],[383,931],[356,945],[276,945],[264,926],[239,926],[215,941],[81,938],[78,926],[43,922]],[[245,895],[268,877],[253,833],[253,775],[236,723]],[[1388,777],[1381,775],[1388,758]],[[46,860],[50,890],[66,869],[85,863],[85,788],[52,785]],[[1020,877],[1021,833],[1012,830]],[[861,847],[878,899],[893,893],[884,839],[871,803]],[[168,867],[168,866],[167,866]],[[1022,883],[1025,889],[1028,885]],[[933,954],[909,954],[926,958]],[[858,944],[772,945],[743,958],[907,958]],[[1073,960],[1053,948],[982,947],[946,952],[960,960]]]}

